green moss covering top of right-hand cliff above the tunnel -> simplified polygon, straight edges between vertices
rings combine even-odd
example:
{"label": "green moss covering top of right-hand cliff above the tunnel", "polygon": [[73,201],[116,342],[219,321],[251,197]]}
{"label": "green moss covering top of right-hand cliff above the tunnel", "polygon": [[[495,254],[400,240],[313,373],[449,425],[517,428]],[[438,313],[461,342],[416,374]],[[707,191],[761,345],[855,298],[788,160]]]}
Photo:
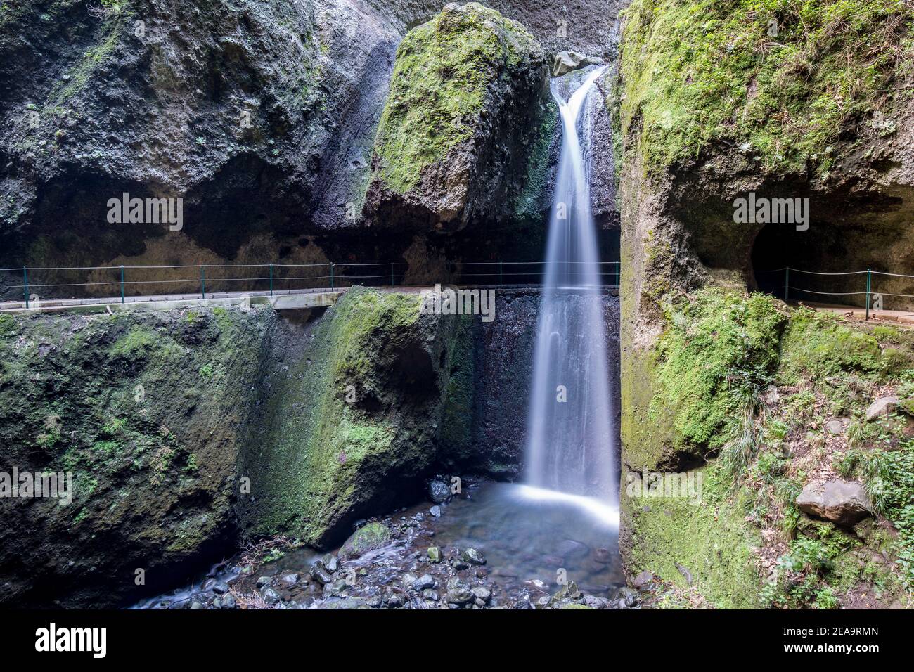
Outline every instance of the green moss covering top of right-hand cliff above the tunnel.
{"label": "green moss covering top of right-hand cliff above the tunnel", "polygon": [[648,170],[718,144],[826,173],[852,124],[894,131],[879,114],[910,53],[900,0],[634,0],[623,16],[622,128]]}

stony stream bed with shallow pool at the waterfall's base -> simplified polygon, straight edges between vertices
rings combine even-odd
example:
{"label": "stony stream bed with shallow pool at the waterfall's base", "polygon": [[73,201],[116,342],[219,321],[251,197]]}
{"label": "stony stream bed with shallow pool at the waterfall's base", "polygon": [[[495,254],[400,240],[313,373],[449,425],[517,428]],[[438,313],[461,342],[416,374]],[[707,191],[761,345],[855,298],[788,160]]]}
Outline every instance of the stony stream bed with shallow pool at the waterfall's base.
{"label": "stony stream bed with shallow pool at the waterfall's base", "polygon": [[248,549],[190,585],[133,608],[531,609],[637,603],[634,592],[624,588],[618,510],[590,498],[483,482],[466,486],[448,503],[407,507],[381,522],[391,530],[389,543],[361,557],[342,561],[335,553],[294,545],[262,553]]}

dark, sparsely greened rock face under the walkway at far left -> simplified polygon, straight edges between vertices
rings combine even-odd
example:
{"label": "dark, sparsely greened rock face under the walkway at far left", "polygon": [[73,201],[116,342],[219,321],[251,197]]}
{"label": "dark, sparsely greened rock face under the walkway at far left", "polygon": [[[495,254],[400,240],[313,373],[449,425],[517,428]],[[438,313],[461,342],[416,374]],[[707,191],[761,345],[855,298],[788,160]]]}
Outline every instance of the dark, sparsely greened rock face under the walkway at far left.
{"label": "dark, sparsely greened rock face under the walkway at far left", "polygon": [[73,499],[0,498],[0,603],[116,605],[234,538],[271,310],[0,317],[0,472],[70,473]]}

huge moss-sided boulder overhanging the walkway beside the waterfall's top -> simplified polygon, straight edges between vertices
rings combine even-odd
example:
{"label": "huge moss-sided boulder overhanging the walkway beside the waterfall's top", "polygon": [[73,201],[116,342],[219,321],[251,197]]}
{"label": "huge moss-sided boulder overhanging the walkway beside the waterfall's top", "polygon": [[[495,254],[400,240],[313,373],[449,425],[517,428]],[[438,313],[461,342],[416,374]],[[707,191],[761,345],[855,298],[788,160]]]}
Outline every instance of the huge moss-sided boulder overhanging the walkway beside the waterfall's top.
{"label": "huge moss-sided boulder overhanging the walkway beside the waterfall's top", "polygon": [[410,30],[377,128],[369,216],[455,230],[507,215],[545,110],[546,75],[526,28],[477,3],[446,5]]}

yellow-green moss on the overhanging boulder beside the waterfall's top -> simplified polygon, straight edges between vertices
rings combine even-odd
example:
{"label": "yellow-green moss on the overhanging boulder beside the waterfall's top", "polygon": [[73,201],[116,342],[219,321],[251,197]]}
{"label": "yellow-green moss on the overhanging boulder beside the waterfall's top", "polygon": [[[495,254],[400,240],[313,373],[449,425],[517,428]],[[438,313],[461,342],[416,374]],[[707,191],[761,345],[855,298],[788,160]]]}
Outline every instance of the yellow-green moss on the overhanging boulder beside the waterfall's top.
{"label": "yellow-green moss on the overhanging boulder beside the waterfall's top", "polygon": [[473,137],[489,85],[536,42],[520,24],[477,3],[448,5],[397,49],[375,139],[375,176],[405,194],[422,171]]}

